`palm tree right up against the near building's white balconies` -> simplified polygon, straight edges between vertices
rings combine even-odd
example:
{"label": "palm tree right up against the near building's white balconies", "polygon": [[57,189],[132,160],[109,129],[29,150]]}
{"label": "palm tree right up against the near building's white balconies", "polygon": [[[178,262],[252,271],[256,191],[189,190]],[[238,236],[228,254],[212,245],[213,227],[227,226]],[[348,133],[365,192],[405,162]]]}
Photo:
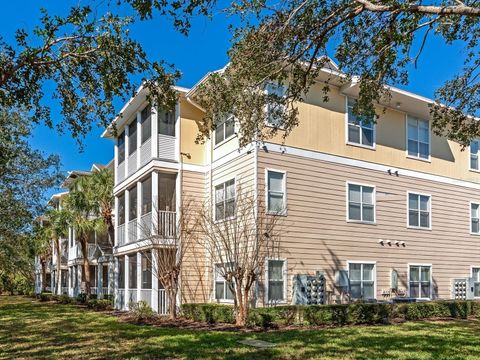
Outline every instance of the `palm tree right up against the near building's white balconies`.
{"label": "palm tree right up against the near building's white balconies", "polygon": [[89,176],[86,195],[95,202],[108,233],[108,242],[113,247],[115,226],[113,224],[113,172],[110,169],[96,171]]}

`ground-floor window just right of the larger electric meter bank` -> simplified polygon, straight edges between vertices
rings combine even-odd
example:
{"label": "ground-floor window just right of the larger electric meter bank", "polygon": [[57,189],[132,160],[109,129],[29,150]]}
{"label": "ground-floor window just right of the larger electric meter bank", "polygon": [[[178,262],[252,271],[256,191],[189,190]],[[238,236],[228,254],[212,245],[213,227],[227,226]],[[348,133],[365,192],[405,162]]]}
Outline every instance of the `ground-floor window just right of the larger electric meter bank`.
{"label": "ground-floor window just right of the larger electric meter bank", "polygon": [[375,298],[375,264],[349,263],[348,278],[353,299]]}

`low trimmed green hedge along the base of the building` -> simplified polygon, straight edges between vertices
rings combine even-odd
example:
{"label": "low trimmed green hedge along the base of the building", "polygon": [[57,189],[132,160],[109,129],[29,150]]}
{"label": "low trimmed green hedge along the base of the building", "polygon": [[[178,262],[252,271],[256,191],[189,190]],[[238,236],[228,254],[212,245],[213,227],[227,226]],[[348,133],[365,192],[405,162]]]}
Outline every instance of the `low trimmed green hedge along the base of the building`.
{"label": "low trimmed green hedge along the base of the building", "polygon": [[[208,323],[235,323],[232,306],[220,304],[182,305],[184,318]],[[289,305],[250,309],[248,327],[285,325],[343,326],[388,324],[394,320],[480,317],[480,302],[445,300],[418,303],[353,303],[343,305]]]}

